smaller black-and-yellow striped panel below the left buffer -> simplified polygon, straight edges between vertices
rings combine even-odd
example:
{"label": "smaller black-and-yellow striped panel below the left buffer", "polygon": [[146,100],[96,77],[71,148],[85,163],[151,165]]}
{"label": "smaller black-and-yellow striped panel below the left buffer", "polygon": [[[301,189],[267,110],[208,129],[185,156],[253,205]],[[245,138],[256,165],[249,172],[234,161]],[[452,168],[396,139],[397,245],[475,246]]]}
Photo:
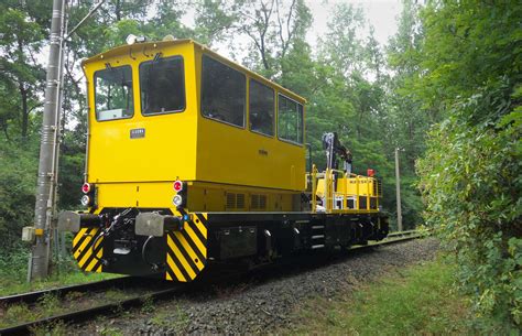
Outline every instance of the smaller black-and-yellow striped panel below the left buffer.
{"label": "smaller black-and-yellow striped panel below the left buffer", "polygon": [[[101,272],[104,256],[104,237],[96,240],[99,228],[81,228],[73,239],[73,256],[80,269],[87,272]],[[93,248],[93,243],[96,246]],[[96,258],[95,258],[96,256]]]}

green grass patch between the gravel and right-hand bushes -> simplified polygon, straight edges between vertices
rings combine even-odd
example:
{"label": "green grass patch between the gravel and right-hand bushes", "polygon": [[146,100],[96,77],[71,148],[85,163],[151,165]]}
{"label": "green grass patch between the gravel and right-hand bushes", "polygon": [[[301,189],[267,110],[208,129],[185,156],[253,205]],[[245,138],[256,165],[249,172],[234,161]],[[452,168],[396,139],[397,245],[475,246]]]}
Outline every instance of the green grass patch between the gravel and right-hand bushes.
{"label": "green grass patch between the gravel and right-hand bushes", "polygon": [[469,335],[472,314],[453,290],[455,265],[446,259],[395,269],[378,281],[356,284],[336,299],[316,299],[296,314],[291,334]]}

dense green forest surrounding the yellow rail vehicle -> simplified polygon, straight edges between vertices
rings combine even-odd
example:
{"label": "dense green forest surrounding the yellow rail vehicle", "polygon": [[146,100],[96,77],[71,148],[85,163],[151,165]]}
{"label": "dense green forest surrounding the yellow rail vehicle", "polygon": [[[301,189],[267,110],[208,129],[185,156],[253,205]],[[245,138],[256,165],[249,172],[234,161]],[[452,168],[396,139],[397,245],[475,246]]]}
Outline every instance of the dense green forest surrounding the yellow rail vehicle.
{"label": "dense green forest surrounding the yellow rail vehicle", "polygon": [[[74,26],[94,1],[68,2]],[[182,23],[187,12],[193,26]],[[34,214],[51,13],[51,1],[0,3],[0,275],[14,279],[24,278],[21,228]],[[327,32],[311,44],[314,22],[304,0],[106,1],[66,52],[59,207],[79,206],[81,58],[131,33],[226,46],[239,63],[308,100],[306,137],[319,166],[320,136],[336,131],[357,173],[376,169],[392,226],[394,150],[401,148],[405,227],[437,229],[477,314],[520,325],[521,18],[514,0],[403,0],[398,32],[381,45],[365,12],[340,2]]]}

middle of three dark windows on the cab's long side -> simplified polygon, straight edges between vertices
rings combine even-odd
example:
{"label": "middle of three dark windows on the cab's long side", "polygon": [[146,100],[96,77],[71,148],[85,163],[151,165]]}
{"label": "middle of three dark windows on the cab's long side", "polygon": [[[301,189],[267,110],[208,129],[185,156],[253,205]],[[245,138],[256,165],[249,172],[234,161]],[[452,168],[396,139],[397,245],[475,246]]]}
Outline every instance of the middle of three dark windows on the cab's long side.
{"label": "middle of three dark windows on the cab's long side", "polygon": [[274,90],[250,79],[250,129],[267,136],[274,134]]}

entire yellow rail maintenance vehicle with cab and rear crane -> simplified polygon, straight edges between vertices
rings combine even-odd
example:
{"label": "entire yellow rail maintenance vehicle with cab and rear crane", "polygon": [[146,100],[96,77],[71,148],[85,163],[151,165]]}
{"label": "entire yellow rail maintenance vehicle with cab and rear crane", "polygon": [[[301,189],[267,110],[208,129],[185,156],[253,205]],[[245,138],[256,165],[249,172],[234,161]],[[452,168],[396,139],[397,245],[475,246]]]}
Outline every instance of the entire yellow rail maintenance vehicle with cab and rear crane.
{"label": "entire yellow rail maintenance vehicle with cab and rear crane", "polygon": [[[388,234],[377,178],[305,167],[305,99],[191,40],[84,61],[87,212],[64,212],[83,270],[194,280],[208,263],[269,262]],[[345,169],[336,170],[337,156]]]}

